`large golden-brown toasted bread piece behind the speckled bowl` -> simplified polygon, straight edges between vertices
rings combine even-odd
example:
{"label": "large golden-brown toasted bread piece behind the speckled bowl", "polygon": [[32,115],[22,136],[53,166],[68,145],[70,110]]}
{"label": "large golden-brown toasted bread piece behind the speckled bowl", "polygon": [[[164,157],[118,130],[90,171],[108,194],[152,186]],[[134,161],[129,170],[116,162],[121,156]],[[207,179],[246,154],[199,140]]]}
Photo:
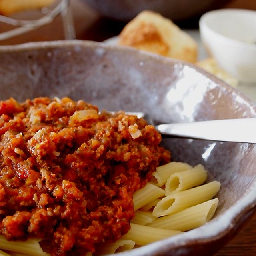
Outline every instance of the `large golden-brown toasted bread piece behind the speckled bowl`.
{"label": "large golden-brown toasted bread piece behind the speckled bowl", "polygon": [[124,27],[118,44],[188,62],[196,62],[198,55],[190,35],[171,20],[147,10]]}

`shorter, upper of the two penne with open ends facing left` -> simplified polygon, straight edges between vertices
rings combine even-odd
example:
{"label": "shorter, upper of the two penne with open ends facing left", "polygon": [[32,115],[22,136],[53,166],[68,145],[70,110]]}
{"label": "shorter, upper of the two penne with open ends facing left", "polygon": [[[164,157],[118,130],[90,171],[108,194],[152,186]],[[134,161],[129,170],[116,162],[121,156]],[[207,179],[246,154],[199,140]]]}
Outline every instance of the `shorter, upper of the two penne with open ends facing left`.
{"label": "shorter, upper of the two penne with open ends facing left", "polygon": [[202,164],[183,172],[172,174],[165,185],[165,194],[199,186],[206,181],[207,172]]}

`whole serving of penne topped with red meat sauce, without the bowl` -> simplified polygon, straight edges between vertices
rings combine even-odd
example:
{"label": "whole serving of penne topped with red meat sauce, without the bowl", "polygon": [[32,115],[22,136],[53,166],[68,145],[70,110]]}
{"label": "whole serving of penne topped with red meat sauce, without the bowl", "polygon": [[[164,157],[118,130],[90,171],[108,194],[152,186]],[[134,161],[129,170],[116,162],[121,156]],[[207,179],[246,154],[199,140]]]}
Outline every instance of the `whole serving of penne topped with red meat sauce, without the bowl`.
{"label": "whole serving of penne topped with red meat sauce, without the bowl", "polygon": [[143,118],[68,97],[10,98],[0,113],[0,256],[113,254],[181,234],[216,210],[218,200],[202,203],[220,183],[198,186],[200,164],[157,167],[171,152]]}

